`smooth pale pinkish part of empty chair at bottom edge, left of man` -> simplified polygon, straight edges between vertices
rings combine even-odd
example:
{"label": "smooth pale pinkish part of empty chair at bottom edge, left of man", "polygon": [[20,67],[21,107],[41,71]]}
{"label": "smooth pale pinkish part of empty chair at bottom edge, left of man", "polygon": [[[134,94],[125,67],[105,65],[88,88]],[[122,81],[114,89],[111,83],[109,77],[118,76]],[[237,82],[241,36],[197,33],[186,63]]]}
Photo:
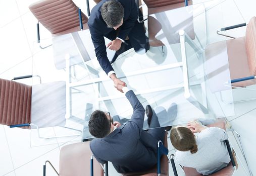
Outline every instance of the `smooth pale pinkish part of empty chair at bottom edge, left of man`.
{"label": "smooth pale pinkish part of empty chair at bottom edge, left of man", "polygon": [[[60,176],[90,175],[90,142],[79,142],[65,145],[60,152]],[[93,159],[93,173],[103,176],[102,167]]]}

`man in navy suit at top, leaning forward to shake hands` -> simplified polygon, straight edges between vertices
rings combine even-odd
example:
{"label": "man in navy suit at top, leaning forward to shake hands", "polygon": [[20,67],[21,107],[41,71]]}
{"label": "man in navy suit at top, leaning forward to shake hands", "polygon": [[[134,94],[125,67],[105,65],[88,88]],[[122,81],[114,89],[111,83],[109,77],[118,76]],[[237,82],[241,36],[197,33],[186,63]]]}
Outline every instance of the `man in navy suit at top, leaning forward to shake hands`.
{"label": "man in navy suit at top, leaning forward to shake hands", "polygon": [[[140,11],[139,16],[142,16]],[[96,57],[101,68],[114,81],[115,87],[118,84],[126,85],[117,78],[111,66],[118,55],[132,47],[141,54],[149,49],[143,24],[137,22],[137,17],[138,8],[134,0],[103,0],[91,11],[88,26]],[[107,57],[104,37],[111,40],[107,47],[116,51],[111,62]],[[126,40],[127,37],[129,40]]]}

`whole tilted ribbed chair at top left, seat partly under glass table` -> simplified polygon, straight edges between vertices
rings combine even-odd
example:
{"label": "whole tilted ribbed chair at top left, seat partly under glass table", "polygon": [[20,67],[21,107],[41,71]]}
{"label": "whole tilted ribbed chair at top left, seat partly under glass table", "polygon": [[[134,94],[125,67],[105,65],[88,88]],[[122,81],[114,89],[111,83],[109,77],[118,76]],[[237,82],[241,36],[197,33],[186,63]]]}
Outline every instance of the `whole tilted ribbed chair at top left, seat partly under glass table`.
{"label": "whole tilted ribbed chair at top left, seat partly under glass table", "polygon": [[[66,67],[65,59],[62,55],[65,52],[71,52],[69,54],[72,55],[72,65],[81,64],[83,61],[90,60],[86,49],[79,47],[82,42],[79,35],[76,33],[80,30],[88,29],[88,18],[72,0],[43,0],[30,5],[29,9],[38,20],[37,43],[40,44],[39,22],[52,33],[53,55],[57,69],[64,69]],[[75,46],[78,47],[78,53],[74,52],[76,48],[71,50],[71,48],[66,47],[65,41],[69,38],[61,39],[65,41],[59,41],[58,36],[69,33],[71,33],[72,39],[68,42],[75,43]],[[52,46],[52,44],[39,46],[44,49]]]}

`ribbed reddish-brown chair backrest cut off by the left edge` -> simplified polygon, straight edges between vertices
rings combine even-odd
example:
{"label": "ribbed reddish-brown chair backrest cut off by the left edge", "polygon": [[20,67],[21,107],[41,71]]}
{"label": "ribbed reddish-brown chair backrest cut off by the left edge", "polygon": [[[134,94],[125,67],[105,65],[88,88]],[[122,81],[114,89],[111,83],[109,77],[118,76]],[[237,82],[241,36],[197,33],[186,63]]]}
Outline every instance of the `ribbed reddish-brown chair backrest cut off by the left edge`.
{"label": "ribbed reddish-brown chair backrest cut off by the left edge", "polygon": [[0,78],[0,124],[31,122],[31,92],[30,85]]}

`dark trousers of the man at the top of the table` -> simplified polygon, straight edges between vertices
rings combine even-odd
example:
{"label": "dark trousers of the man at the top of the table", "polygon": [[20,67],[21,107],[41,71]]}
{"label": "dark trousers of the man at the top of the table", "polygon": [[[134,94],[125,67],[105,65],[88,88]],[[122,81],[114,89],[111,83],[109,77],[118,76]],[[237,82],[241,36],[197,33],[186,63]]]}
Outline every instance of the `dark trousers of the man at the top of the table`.
{"label": "dark trousers of the man at the top of the table", "polygon": [[[139,11],[139,16],[142,16]],[[115,40],[117,38],[119,30],[112,30],[110,33],[105,35],[108,39]],[[135,22],[134,27],[131,29],[128,34],[129,40],[126,40],[125,43],[122,43],[120,51],[117,52],[118,55],[121,53],[133,48],[136,52],[141,49],[145,49],[146,51],[149,49],[148,38],[145,35],[144,23]],[[117,55],[117,56],[118,56]]]}

